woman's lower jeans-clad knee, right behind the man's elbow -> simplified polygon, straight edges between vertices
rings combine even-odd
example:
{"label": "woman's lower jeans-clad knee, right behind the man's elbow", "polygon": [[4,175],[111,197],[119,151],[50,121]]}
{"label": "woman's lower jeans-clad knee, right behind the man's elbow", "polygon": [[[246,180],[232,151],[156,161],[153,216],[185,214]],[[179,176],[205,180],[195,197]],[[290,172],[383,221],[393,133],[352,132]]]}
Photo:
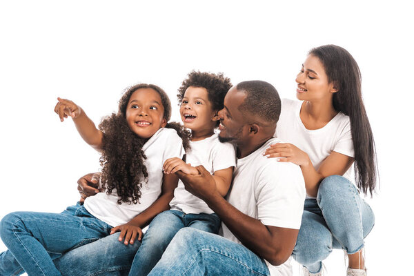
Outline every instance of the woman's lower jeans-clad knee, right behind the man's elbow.
{"label": "woman's lower jeans-clad knee, right behind the man's elbow", "polygon": [[322,269],[322,260],[332,252],[332,243],[331,231],[326,226],[316,200],[306,199],[293,258],[311,273],[318,273]]}

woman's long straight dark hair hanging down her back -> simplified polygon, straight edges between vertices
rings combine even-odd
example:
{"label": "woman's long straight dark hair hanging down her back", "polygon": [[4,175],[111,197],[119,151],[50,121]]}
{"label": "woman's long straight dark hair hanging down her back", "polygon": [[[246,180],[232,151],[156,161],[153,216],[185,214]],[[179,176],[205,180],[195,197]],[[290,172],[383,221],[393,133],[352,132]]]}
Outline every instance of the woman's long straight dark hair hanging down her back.
{"label": "woman's long straight dark hair hanging down her back", "polygon": [[355,152],[355,181],[364,194],[375,190],[377,157],[371,125],[362,101],[361,72],[351,54],[335,45],[313,48],[309,55],[317,57],[324,65],[329,83],[337,92],[333,94],[333,107],[349,116]]}

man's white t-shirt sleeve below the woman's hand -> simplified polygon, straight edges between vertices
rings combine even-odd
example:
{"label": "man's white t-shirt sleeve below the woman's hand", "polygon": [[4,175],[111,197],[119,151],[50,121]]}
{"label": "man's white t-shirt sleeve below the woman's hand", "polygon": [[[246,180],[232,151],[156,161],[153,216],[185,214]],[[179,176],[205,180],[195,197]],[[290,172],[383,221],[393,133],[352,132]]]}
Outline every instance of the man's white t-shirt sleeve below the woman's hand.
{"label": "man's white t-shirt sleeve below the woman's hand", "polygon": [[257,215],[262,224],[299,229],[306,196],[299,166],[269,161],[259,172],[255,189]]}

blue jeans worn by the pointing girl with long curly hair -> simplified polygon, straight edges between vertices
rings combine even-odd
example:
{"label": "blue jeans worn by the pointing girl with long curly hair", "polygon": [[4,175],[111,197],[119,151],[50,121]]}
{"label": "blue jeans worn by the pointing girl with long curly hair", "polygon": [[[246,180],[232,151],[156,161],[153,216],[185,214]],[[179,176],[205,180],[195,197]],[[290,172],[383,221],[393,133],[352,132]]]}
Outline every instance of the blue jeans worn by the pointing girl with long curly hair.
{"label": "blue jeans worn by the pointing girl with long curly hair", "polygon": [[112,227],[79,203],[60,214],[15,212],[3,217],[0,235],[8,250],[0,254],[0,275],[61,275],[52,259],[67,250],[106,237]]}

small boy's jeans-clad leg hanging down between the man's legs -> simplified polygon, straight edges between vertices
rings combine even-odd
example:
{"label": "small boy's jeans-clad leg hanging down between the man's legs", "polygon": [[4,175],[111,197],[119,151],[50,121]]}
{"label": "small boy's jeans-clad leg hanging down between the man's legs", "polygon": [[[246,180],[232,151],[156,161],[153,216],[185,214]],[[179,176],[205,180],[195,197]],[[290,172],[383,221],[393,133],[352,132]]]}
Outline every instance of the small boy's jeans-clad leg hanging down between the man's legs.
{"label": "small boy's jeans-clad leg hanging down between the man's legs", "polygon": [[161,259],[164,250],[175,234],[184,227],[182,217],[185,214],[178,210],[166,210],[152,219],[142,244],[132,262],[129,275],[148,275]]}

